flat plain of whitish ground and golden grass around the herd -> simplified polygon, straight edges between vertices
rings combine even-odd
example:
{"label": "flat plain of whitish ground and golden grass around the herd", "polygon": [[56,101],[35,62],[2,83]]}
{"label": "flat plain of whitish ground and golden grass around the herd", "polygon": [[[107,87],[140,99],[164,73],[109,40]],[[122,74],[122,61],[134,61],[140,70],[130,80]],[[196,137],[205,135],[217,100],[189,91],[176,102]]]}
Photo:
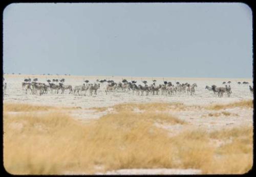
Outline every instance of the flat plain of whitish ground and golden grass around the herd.
{"label": "flat plain of whitish ground and golden grass around the herd", "polygon": [[[13,174],[230,174],[252,166],[251,79],[131,78],[5,74],[4,165]],[[196,83],[194,95],[35,95],[25,78]],[[218,97],[205,86],[225,86]],[[238,84],[238,82],[249,84]],[[50,158],[50,159],[48,159]]]}

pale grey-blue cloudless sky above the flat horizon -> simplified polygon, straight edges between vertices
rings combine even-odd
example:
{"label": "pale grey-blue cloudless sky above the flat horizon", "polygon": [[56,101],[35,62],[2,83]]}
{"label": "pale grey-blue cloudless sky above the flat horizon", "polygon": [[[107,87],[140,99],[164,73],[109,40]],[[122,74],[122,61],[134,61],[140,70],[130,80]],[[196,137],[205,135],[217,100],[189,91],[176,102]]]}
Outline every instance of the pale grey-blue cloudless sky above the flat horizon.
{"label": "pale grey-blue cloudless sky above the flat horizon", "polygon": [[243,3],[19,3],[3,24],[5,73],[252,78]]}

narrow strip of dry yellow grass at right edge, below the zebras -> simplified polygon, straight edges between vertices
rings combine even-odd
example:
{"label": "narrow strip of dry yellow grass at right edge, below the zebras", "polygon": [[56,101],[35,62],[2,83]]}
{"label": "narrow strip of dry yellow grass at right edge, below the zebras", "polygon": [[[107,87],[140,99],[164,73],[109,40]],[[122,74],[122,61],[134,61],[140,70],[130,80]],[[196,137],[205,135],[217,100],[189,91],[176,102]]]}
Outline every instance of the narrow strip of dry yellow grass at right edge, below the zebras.
{"label": "narrow strip of dry yellow grass at right edge, below the zebras", "polygon": [[221,110],[226,108],[234,108],[234,107],[245,107],[245,108],[253,108],[253,100],[242,100],[240,102],[235,102],[226,105],[211,105],[206,107],[209,110]]}

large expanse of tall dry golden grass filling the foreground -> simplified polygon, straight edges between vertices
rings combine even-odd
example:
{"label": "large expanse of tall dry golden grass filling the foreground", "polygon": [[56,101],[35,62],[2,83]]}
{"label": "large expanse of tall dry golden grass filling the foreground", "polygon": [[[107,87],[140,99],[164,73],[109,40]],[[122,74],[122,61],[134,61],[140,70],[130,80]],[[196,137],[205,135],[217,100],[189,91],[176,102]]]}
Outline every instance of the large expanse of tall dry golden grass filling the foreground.
{"label": "large expanse of tall dry golden grass filling the foreground", "polygon": [[[206,174],[226,174],[244,173],[252,166],[252,128],[185,131],[169,137],[154,122],[186,123],[168,114],[117,110],[89,124],[58,110],[49,114],[8,114],[5,110],[6,170],[12,174],[63,174],[65,170],[198,168]],[[210,143],[211,139],[230,138],[231,143],[220,147]]]}

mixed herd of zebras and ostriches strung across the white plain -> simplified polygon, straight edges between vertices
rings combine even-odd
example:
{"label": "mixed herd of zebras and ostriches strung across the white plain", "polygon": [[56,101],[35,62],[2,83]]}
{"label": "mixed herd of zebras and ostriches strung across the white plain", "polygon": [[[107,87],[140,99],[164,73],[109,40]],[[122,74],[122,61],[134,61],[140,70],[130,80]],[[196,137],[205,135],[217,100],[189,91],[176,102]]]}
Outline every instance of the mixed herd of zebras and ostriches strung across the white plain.
{"label": "mixed herd of zebras and ostriches strung across the white plain", "polygon": [[[197,84],[189,84],[189,83],[179,83],[176,82],[173,84],[172,82],[163,81],[163,84],[156,85],[156,80],[152,80],[152,84],[147,85],[147,81],[142,81],[143,84],[136,84],[137,81],[131,81],[128,82],[126,79],[123,79],[122,82],[114,82],[113,80],[96,80],[95,83],[89,83],[89,80],[83,80],[83,84],[74,86],[72,85],[66,85],[65,79],[53,79],[53,80],[46,80],[47,83],[41,83],[38,82],[38,79],[35,78],[33,80],[24,79],[24,82],[22,82],[22,89],[25,90],[26,94],[28,94],[28,91],[30,94],[36,94],[36,95],[42,95],[42,94],[48,94],[50,92],[51,94],[63,94],[65,93],[65,90],[69,91],[69,94],[74,93],[77,95],[81,95],[84,93],[86,95],[87,91],[90,92],[90,95],[97,94],[97,90],[99,88],[103,88],[103,91],[105,94],[108,94],[109,92],[129,92],[132,91],[133,93],[136,93],[137,95],[148,95],[151,93],[152,95],[174,95],[174,94],[181,94],[181,93],[187,93],[190,95],[195,94]],[[226,82],[223,82],[222,84],[225,85],[225,87],[217,87],[216,85],[212,85],[211,87],[206,86],[205,89],[209,91],[213,91],[214,94],[218,93],[219,97],[223,97],[224,93],[227,94],[229,97],[232,93],[231,87],[230,87],[230,81],[227,82],[228,85],[225,85]],[[248,82],[238,82],[238,84],[249,84]],[[4,83],[4,94],[6,93],[7,89],[7,83]],[[253,88],[249,86],[250,92],[253,94]],[[60,91],[60,92],[59,92]]]}

